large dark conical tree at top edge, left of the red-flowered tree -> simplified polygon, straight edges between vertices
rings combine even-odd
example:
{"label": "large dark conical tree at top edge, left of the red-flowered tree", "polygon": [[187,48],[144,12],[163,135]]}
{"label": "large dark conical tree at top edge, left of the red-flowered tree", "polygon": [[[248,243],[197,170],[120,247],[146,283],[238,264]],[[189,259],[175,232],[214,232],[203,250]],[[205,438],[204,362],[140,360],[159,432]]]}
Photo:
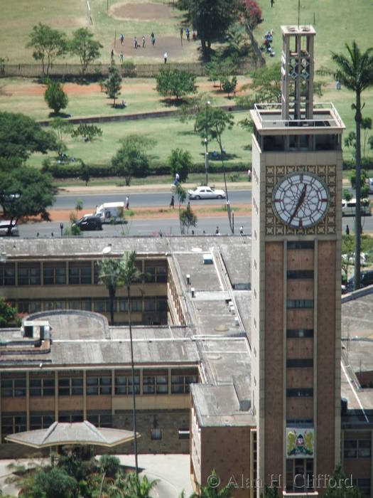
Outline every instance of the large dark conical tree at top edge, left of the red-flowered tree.
{"label": "large dark conical tree at top edge, left of the red-flowered tree", "polygon": [[202,55],[210,60],[212,41],[225,35],[229,25],[237,19],[238,0],[186,0],[183,7],[193,28],[198,32]]}

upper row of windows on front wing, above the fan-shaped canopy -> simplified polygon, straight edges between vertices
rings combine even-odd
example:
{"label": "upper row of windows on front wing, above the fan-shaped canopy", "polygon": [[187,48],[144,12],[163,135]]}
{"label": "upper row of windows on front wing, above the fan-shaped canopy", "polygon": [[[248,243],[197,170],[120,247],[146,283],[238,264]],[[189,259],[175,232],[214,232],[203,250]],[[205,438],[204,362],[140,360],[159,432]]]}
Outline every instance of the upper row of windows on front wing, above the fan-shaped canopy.
{"label": "upper row of windows on front wing, above the fan-shaped canopy", "polygon": [[[197,373],[180,375],[178,371],[171,371],[171,393],[189,393],[190,384],[198,382]],[[30,396],[44,397],[55,396],[55,378],[30,378]],[[58,396],[82,396],[83,376],[59,377]],[[135,393],[140,393],[140,376],[135,372],[134,376]],[[86,378],[87,396],[107,396],[112,394],[112,376],[110,374],[102,376],[87,376]],[[161,371],[151,373],[144,371],[143,394],[168,394],[168,372]],[[126,396],[132,394],[131,373],[124,373],[114,377],[114,394],[116,396]],[[17,398],[26,396],[26,376],[12,378],[4,374],[1,376],[1,398]]]}

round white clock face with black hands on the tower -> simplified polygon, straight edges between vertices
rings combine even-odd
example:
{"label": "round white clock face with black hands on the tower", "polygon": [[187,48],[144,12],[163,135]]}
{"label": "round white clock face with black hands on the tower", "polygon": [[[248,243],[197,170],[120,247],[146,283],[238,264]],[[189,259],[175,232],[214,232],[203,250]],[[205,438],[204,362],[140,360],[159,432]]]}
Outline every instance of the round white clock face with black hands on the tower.
{"label": "round white clock face with black hands on the tower", "polygon": [[291,228],[309,228],[328,211],[329,194],[324,182],[311,173],[284,176],[272,194],[274,213]]}

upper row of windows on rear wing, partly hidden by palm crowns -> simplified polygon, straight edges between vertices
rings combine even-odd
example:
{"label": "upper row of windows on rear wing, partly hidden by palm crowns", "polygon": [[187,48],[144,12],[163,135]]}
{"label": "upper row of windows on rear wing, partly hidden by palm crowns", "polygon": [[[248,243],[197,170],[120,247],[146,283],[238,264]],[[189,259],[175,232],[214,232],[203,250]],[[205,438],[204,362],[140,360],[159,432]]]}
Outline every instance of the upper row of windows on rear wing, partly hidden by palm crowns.
{"label": "upper row of windows on rear wing, partly hidden by palm crowns", "polygon": [[[141,262],[136,266],[141,272]],[[0,268],[0,285],[91,285],[92,282],[99,282],[97,262],[43,263],[43,269],[37,262],[18,263],[17,268],[16,263],[6,263]],[[144,282],[167,282],[167,266],[146,263]]]}

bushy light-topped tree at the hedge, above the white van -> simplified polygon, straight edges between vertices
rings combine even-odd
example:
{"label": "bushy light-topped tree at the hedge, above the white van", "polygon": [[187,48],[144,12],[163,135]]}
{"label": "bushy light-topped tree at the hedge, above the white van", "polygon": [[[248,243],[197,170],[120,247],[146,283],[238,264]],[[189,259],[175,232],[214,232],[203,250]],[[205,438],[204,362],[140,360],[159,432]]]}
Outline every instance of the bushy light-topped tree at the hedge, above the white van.
{"label": "bushy light-topped tree at the hedge, above the white van", "polygon": [[121,147],[112,158],[112,166],[118,176],[124,176],[126,185],[131,183],[132,176],[141,177],[148,174],[146,149],[153,144],[153,141],[137,135],[129,135],[121,140]]}

